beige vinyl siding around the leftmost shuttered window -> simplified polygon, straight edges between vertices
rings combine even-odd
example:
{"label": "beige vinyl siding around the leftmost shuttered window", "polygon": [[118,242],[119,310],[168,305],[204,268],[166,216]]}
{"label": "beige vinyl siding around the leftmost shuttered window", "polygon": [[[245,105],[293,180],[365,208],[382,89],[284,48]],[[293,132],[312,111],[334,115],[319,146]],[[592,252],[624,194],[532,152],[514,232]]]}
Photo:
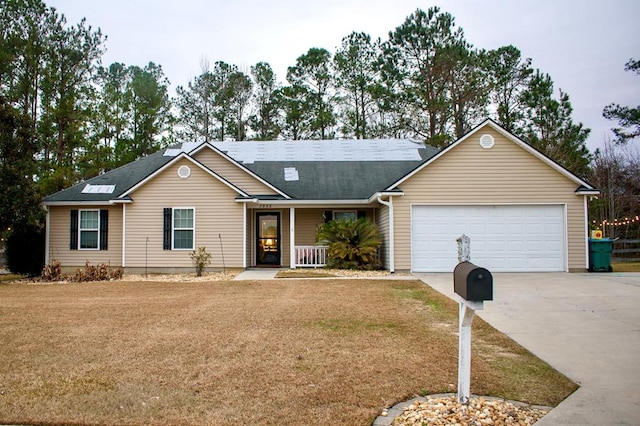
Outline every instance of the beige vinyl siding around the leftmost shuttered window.
{"label": "beige vinyl siding around the leftmost shuttered window", "polygon": [[[109,230],[107,250],[69,249],[71,210],[108,210]],[[49,206],[49,261],[57,260],[65,268],[108,263],[122,265],[122,205],[111,206]]]}

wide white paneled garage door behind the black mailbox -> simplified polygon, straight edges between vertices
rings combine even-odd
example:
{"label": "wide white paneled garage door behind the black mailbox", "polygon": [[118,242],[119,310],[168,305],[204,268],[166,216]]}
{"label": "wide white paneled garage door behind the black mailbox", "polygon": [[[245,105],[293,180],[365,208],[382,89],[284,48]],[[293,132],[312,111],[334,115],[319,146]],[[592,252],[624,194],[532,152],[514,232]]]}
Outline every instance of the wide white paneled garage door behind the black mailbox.
{"label": "wide white paneled garage door behind the black mailbox", "polygon": [[564,271],[562,205],[413,206],[415,272],[452,272],[456,239],[471,238],[471,262],[492,272]]}

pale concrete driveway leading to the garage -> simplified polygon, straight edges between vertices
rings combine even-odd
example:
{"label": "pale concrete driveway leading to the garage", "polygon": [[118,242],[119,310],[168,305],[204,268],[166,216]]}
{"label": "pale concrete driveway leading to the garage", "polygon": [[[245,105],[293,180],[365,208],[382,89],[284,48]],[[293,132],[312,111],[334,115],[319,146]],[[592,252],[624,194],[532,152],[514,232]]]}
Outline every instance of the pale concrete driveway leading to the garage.
{"label": "pale concrete driveway leading to the garage", "polygon": [[[452,274],[414,275],[453,294]],[[580,385],[538,425],[640,425],[640,273],[494,274],[484,306],[482,319]]]}

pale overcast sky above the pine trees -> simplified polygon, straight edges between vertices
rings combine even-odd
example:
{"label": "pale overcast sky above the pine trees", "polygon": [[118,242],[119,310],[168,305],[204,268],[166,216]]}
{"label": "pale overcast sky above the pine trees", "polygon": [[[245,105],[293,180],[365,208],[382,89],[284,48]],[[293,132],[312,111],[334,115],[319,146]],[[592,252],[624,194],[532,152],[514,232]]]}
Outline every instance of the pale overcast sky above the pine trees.
{"label": "pale overcast sky above the pine trees", "polygon": [[568,93],[574,121],[602,145],[614,122],[605,105],[640,104],[640,77],[624,71],[640,59],[638,0],[45,0],[69,23],[86,17],[108,36],[103,65],[162,65],[171,91],[200,73],[203,58],[249,70],[271,64],[280,82],[311,47],[335,52],[353,31],[385,40],[420,8],[451,13],[477,48],[512,44]]}

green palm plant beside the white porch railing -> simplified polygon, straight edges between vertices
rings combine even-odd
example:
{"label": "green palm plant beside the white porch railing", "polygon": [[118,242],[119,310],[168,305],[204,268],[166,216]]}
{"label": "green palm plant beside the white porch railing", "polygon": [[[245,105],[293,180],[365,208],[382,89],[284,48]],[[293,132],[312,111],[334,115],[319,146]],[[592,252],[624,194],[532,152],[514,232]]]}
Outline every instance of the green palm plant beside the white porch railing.
{"label": "green palm plant beside the white porch railing", "polygon": [[317,240],[329,246],[328,266],[348,269],[378,266],[382,240],[376,225],[366,218],[327,222],[318,230]]}

